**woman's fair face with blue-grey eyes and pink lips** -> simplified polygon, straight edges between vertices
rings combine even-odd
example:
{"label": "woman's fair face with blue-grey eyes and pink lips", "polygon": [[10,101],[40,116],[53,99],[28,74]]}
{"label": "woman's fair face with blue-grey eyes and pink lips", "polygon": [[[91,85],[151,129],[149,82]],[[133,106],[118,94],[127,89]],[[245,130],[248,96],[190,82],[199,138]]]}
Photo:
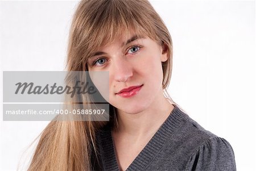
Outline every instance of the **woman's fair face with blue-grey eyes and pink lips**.
{"label": "woman's fair face with blue-grey eyes and pink lips", "polygon": [[[118,110],[136,114],[147,109],[163,92],[162,62],[168,57],[162,53],[162,46],[149,37],[136,34],[128,37],[97,49],[95,56],[88,60],[88,70],[108,71],[109,103]],[[100,82],[94,85],[101,92]],[[126,92],[119,93],[123,89]]]}

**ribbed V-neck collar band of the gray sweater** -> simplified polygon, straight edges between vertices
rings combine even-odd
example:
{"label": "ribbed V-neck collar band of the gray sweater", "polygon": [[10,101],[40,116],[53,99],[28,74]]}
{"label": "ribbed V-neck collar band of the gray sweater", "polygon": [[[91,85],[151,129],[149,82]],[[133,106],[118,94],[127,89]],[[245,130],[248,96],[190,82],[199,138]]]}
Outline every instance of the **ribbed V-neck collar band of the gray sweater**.
{"label": "ribbed V-neck collar band of the gray sweater", "polygon": [[[174,105],[174,104],[173,104]],[[148,141],[147,145],[142,149],[139,155],[131,162],[126,171],[145,170],[150,164],[150,161],[159,153],[163,144],[168,138],[180,127],[182,120],[187,118],[187,114],[174,105],[171,114],[160,126],[154,136]],[[100,135],[100,147],[102,151],[102,160],[104,170],[119,171],[117,157],[115,156],[114,140],[111,132],[111,127],[106,127]]]}

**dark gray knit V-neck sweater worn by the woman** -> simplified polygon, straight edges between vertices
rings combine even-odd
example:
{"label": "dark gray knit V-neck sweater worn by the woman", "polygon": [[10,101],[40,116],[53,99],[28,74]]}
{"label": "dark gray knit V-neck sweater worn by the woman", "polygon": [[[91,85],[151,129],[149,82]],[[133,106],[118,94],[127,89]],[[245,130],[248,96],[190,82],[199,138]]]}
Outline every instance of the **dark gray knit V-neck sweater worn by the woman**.
{"label": "dark gray knit V-neck sweater worn by the woman", "polygon": [[[174,106],[127,170],[236,170],[229,142]],[[96,144],[100,161],[92,157],[93,170],[119,170],[109,125],[98,132]]]}

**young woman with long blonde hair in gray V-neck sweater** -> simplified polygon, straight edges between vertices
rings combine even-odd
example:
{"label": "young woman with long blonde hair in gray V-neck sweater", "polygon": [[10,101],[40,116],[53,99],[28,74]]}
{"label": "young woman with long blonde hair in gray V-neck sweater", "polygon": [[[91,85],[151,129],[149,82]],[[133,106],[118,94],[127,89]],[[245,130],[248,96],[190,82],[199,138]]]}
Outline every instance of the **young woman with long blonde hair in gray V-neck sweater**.
{"label": "young woman with long blonde hair in gray V-neck sweater", "polygon": [[172,40],[148,1],[81,1],[67,70],[109,72],[110,121],[52,121],[28,170],[236,170],[228,141],[168,95]]}

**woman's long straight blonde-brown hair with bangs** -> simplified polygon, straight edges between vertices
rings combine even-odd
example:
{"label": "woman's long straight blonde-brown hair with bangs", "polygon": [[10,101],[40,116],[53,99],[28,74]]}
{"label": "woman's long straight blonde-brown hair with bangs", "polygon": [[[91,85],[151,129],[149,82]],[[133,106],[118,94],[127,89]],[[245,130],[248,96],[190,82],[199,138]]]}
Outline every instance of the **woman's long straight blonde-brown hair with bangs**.
{"label": "woman's long straight blonde-brown hair with bangs", "polygon": [[[81,1],[69,32],[66,70],[88,70],[86,62],[97,48],[131,30],[166,47],[168,60],[162,62],[163,94],[181,109],[166,90],[172,74],[171,35],[146,0]],[[83,101],[90,98],[75,96],[74,99],[83,98]],[[90,106],[74,107],[83,109]],[[110,105],[110,122],[52,120],[39,135],[28,170],[92,170],[91,156],[93,152],[97,153],[96,132],[107,123],[117,124],[116,117],[115,107]]]}

